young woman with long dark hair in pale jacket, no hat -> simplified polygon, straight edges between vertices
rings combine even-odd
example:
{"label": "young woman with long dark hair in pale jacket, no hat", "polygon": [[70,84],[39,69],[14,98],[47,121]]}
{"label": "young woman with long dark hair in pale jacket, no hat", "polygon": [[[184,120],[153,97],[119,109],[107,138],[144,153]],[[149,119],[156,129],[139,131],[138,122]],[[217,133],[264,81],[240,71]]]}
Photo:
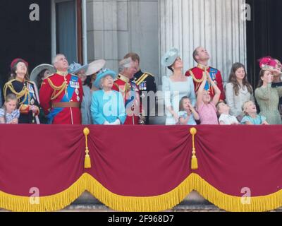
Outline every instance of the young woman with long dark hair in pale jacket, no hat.
{"label": "young woman with long dark hair in pale jacket, no hat", "polygon": [[243,118],[242,106],[245,102],[254,99],[252,85],[247,81],[245,66],[240,63],[233,64],[226,84],[226,103],[230,107],[230,114],[240,119]]}

